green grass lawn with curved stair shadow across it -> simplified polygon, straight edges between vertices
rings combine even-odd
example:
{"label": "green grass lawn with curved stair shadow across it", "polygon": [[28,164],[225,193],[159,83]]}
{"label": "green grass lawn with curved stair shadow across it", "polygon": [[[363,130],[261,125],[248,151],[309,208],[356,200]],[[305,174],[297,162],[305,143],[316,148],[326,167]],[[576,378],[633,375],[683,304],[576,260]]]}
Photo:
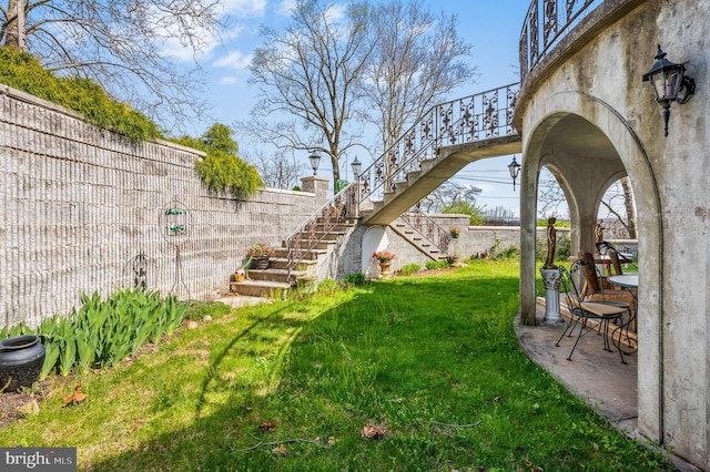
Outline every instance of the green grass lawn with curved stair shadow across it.
{"label": "green grass lawn with curved stair shadow across it", "polygon": [[55,379],[0,444],[77,447],[93,471],[671,470],[519,350],[517,274],[476,261],[235,309]]}

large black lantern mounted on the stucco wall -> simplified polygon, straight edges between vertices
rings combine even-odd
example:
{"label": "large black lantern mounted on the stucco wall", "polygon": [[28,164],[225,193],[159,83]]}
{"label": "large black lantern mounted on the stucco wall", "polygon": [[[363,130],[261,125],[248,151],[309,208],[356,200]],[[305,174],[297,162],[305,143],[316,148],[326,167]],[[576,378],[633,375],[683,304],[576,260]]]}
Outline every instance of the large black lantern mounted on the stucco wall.
{"label": "large black lantern mounted on the stucco wall", "polygon": [[668,136],[668,119],[670,104],[686,103],[696,93],[696,81],[686,76],[686,65],[676,64],[666,59],[666,53],[658,44],[656,63],[643,74],[643,82],[650,82],[656,93],[656,101],[663,107],[663,136]]}

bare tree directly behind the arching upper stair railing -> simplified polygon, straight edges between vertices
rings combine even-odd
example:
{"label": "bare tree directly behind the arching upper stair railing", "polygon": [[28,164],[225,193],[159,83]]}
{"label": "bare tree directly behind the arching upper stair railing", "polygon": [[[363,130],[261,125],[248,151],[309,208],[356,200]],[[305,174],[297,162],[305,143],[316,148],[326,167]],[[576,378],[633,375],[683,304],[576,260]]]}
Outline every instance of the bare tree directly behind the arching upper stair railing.
{"label": "bare tree directly behind the arching upper stair railing", "polygon": [[457,35],[457,23],[456,16],[435,17],[420,0],[393,0],[369,11],[374,50],[362,88],[366,120],[379,130],[383,150],[452,90],[475,81],[476,69],[463,60],[470,45]]}

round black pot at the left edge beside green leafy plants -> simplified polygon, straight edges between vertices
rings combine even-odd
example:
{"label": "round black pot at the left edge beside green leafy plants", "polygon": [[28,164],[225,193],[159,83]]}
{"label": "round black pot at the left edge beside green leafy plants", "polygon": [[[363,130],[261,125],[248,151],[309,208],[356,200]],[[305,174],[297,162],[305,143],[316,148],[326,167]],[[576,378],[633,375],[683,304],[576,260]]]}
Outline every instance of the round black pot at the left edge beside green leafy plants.
{"label": "round black pot at the left edge beside green leafy plants", "polygon": [[0,389],[13,392],[31,387],[40,378],[44,363],[44,346],[40,337],[23,335],[0,342]]}

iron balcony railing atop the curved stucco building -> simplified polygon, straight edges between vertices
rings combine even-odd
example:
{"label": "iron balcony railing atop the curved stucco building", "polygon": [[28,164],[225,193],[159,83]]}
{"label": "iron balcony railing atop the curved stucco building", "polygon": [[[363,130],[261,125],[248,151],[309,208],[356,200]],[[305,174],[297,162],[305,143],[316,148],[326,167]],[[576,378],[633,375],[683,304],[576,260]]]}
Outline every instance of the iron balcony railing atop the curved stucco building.
{"label": "iron balcony railing atop the curved stucco building", "polygon": [[604,0],[532,0],[520,31],[520,81]]}

